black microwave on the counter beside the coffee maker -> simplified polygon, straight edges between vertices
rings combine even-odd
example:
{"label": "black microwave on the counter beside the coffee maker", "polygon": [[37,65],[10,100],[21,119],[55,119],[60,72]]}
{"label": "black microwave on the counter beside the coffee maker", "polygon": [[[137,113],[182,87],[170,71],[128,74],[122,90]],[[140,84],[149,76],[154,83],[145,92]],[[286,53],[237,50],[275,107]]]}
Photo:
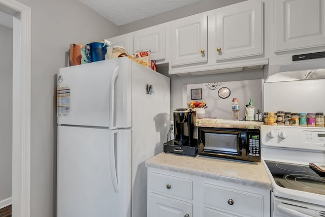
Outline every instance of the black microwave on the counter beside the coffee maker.
{"label": "black microwave on the counter beside the coffee maker", "polygon": [[201,156],[261,162],[259,128],[198,127]]}

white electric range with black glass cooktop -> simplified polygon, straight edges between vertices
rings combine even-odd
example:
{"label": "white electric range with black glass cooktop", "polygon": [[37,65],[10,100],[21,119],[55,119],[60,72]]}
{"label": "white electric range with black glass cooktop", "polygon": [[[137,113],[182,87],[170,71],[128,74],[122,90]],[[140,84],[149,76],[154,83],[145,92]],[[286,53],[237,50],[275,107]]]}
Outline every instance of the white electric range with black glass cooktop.
{"label": "white electric range with black glass cooktop", "polygon": [[261,126],[261,159],[272,183],[273,217],[325,216],[325,128]]}

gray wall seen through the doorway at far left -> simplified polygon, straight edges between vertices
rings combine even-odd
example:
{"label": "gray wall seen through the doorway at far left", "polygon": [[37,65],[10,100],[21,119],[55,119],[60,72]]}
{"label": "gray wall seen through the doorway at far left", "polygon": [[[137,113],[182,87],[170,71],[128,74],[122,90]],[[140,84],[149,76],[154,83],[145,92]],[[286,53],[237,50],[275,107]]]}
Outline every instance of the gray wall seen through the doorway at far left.
{"label": "gray wall seen through the doorway at far left", "polygon": [[0,201],[11,197],[12,36],[12,28],[0,25]]}

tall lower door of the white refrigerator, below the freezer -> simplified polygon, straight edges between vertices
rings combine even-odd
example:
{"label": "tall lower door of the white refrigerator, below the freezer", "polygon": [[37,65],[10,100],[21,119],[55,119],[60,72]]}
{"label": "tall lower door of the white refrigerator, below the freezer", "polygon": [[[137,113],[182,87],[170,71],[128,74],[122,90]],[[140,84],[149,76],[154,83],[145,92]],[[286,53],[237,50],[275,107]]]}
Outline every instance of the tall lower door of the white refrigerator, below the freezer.
{"label": "tall lower door of the white refrigerator, below the freezer", "polygon": [[131,216],[131,130],[58,127],[57,216]]}

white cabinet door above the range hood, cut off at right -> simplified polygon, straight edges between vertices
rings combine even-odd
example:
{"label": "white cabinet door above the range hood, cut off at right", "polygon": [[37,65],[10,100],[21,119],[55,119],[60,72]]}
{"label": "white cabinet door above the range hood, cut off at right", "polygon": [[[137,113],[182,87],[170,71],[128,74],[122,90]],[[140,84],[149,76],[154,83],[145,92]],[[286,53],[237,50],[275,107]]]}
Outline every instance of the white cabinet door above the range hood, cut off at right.
{"label": "white cabinet door above the range hood, cut off at right", "polygon": [[274,1],[275,52],[325,45],[324,0]]}

